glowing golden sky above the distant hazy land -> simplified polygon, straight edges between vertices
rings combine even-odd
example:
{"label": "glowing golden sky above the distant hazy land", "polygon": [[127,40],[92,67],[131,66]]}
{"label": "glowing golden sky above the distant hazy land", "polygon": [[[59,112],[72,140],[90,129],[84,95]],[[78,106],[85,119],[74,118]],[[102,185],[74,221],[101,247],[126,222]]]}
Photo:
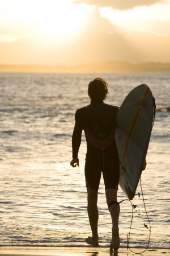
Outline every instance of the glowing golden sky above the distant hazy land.
{"label": "glowing golden sky above the distant hazy land", "polygon": [[170,0],[0,0],[0,64],[170,63]]}

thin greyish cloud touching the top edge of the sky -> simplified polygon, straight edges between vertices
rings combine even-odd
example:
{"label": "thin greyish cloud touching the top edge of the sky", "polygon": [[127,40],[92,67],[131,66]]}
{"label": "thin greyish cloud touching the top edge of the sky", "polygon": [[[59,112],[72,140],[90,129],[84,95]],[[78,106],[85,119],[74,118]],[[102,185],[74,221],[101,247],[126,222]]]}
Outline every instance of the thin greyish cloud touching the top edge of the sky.
{"label": "thin greyish cloud touching the top edge of the sky", "polygon": [[75,0],[74,3],[86,3],[87,5],[95,5],[96,7],[111,7],[117,10],[129,10],[137,6],[150,6],[155,3],[164,3],[160,0]]}

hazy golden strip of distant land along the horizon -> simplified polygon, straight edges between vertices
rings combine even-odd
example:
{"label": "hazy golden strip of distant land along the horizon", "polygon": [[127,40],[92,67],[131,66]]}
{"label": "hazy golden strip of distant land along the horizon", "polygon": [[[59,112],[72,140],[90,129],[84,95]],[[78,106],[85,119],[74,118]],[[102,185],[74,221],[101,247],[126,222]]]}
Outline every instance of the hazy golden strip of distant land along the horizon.
{"label": "hazy golden strip of distant land along the horizon", "polygon": [[70,66],[0,65],[0,72],[33,73],[116,73],[116,72],[170,72],[170,63],[128,63],[124,61],[90,62]]}

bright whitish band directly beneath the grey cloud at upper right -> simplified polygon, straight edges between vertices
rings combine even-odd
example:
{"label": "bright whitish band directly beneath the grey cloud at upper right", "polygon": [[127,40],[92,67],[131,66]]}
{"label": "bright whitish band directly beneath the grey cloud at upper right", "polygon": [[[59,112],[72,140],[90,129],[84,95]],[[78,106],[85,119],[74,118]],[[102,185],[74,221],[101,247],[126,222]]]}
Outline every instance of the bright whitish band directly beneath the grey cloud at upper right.
{"label": "bright whitish band directly beneath the grey cloud at upper right", "polygon": [[101,17],[107,18],[125,32],[147,32],[160,36],[170,35],[170,5],[141,6],[120,11],[110,8],[100,9]]}

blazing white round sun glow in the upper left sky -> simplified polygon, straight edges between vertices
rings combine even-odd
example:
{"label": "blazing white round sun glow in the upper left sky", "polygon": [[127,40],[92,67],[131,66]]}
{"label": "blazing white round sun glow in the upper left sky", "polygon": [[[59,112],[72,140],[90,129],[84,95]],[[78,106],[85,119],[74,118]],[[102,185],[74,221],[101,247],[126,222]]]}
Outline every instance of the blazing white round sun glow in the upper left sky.
{"label": "blazing white round sun glow in the upper left sky", "polygon": [[62,1],[54,1],[53,8],[41,9],[35,24],[36,30],[42,34],[50,37],[62,37],[71,36],[80,31],[85,20],[86,11],[80,6],[72,3],[63,5]]}

